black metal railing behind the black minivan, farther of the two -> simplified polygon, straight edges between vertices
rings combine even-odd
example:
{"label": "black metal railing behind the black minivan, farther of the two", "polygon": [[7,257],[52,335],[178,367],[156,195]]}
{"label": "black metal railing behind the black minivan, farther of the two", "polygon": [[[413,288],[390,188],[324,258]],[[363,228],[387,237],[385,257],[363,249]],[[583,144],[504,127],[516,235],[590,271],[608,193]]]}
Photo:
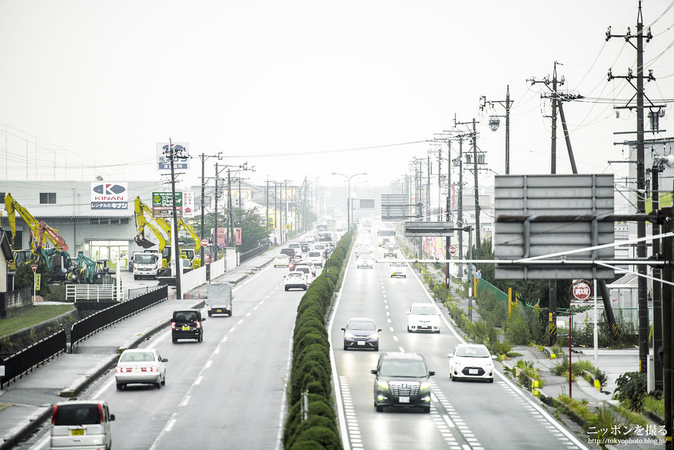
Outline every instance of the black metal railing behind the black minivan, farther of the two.
{"label": "black metal railing behind the black minivan, farther of the two", "polygon": [[126,302],[117,303],[117,305],[107,307],[95,314],[72,324],[70,329],[70,352],[72,347],[81,340],[88,338],[95,331],[119,322],[130,315],[136,314],[146,307],[166,300],[169,296],[169,286],[161,286],[154,291],[145,293],[143,296],[132,298]]}

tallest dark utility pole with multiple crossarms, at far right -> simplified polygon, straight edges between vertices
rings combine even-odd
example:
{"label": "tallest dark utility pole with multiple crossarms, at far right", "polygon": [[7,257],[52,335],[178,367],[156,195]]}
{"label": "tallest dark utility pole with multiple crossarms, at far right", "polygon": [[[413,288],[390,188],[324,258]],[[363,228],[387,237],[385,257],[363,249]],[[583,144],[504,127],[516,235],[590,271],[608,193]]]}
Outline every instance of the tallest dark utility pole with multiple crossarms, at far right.
{"label": "tallest dark utility pole with multiple crossarms, at far right", "polygon": [[[639,0],[639,11],[637,13],[637,34],[633,35],[630,33],[630,29],[627,29],[626,34],[612,34],[611,27],[609,27],[606,32],[606,40],[608,41],[612,37],[622,37],[627,42],[630,43],[637,51],[637,85],[634,86],[632,80],[635,78],[632,73],[632,69],[628,70],[628,74],[622,77],[614,76],[612,70],[609,69],[608,80],[611,81],[615,78],[626,79],[629,84],[631,84],[636,90],[636,112],[637,112],[637,214],[645,212],[645,190],[646,190],[646,173],[645,173],[645,160],[644,160],[644,38],[646,41],[650,41],[653,37],[651,34],[650,28],[648,29],[648,34],[644,36],[644,22],[641,11],[641,0]],[[637,39],[637,45],[635,46],[632,43],[633,38]],[[648,81],[654,80],[652,71],[649,70],[647,77]],[[631,100],[630,100],[631,102]],[[627,105],[630,109],[633,108],[633,105]],[[616,107],[619,108],[619,107]],[[637,239],[646,237],[646,223],[639,220],[637,221]],[[645,259],[647,256],[646,251],[646,242],[640,241],[637,243],[637,258]],[[646,266],[637,265],[637,273],[639,277],[637,279],[637,297],[638,297],[638,306],[639,306],[639,371],[645,373],[647,371],[648,363],[648,334],[649,334],[649,325],[648,325],[648,300],[647,300],[647,282],[646,282]],[[668,300],[669,301],[669,300]],[[671,424],[670,424],[671,426]],[[671,434],[668,434],[671,437]],[[671,446],[671,440],[668,441]]]}

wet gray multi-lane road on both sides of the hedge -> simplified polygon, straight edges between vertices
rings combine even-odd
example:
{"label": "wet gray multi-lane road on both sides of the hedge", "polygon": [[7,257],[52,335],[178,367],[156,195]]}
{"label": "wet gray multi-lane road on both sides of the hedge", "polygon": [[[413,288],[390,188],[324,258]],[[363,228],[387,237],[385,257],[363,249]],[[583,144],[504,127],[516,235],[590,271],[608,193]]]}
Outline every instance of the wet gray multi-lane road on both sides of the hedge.
{"label": "wet gray multi-lane road on both sides of the hedge", "polygon": [[[374,235],[359,239],[366,239],[383,260]],[[291,336],[304,293],[284,291],[284,272],[269,265],[239,284],[233,316],[207,319],[204,343],[172,344],[169,330],[144,343],[169,359],[166,386],[117,391],[110,371],[84,392],[82,397],[105,399],[115,414],[114,448],[282,448]],[[388,263],[357,269],[355,256],[350,259],[329,322],[346,448],[585,448],[500,373],[493,384],[451,382],[447,354],[462,339],[449,322],[443,319],[440,334],[407,332],[409,305],[425,301],[431,302],[411,270],[407,278],[392,279]],[[341,327],[350,317],[371,317],[383,329],[379,352],[343,350]],[[375,411],[370,370],[387,351],[421,353],[435,371],[430,414]],[[48,449],[48,434],[31,445]]]}

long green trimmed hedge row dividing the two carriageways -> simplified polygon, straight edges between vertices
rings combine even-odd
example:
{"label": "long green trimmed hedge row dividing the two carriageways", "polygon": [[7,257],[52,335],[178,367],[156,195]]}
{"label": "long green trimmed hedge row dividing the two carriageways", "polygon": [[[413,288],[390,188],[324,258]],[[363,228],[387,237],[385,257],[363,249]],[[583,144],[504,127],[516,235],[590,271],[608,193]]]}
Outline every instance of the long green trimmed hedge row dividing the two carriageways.
{"label": "long green trimmed hedge row dividing the two carriageways", "polygon": [[[326,317],[332,307],[335,285],[351,248],[346,233],[326,261],[323,272],[309,285],[297,308],[293,332],[293,361],[288,386],[290,404],[283,433],[288,450],[341,450]],[[303,392],[308,392],[306,418]]]}

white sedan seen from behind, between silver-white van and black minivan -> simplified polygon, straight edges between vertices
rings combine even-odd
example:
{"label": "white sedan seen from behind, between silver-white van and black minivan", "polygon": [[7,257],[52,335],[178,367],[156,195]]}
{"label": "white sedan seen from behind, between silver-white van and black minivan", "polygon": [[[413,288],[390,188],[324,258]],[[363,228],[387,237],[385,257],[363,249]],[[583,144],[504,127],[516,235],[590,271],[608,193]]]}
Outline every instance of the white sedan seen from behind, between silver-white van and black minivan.
{"label": "white sedan seen from behind, between silver-white van and black minivan", "polygon": [[161,388],[166,384],[166,365],[169,361],[159,356],[154,348],[133,348],[124,350],[114,369],[117,389],[122,390],[132,383],[151,384]]}

